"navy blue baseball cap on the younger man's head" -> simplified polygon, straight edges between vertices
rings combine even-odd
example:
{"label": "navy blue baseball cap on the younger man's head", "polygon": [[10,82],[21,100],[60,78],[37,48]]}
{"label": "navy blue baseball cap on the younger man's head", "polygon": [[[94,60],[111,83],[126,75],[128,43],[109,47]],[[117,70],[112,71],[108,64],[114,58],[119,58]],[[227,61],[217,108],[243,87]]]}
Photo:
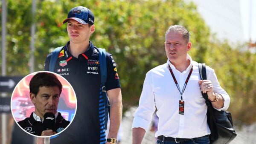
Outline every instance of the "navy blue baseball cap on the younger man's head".
{"label": "navy blue baseball cap on the younger man's head", "polygon": [[67,19],[63,20],[63,23],[67,23],[68,20],[76,20],[77,22],[81,24],[88,24],[91,25],[94,24],[94,15],[90,11],[90,9],[87,9],[83,6],[77,6],[70,10],[70,12],[67,15]]}

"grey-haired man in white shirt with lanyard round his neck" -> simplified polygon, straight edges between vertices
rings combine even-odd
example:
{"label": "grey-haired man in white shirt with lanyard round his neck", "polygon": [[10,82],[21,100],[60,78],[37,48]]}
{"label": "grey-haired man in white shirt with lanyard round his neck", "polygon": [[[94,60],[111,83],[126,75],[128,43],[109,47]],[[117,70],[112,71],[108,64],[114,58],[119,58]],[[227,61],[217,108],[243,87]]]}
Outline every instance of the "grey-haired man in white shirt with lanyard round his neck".
{"label": "grey-haired man in white shirt with lanyard round his neck", "polygon": [[201,92],[208,94],[215,109],[229,107],[230,97],[212,68],[206,67],[208,79],[201,80],[198,63],[187,54],[192,46],[189,39],[183,26],[170,26],[166,31],[168,60],[146,74],[132,124],[133,144],[141,144],[155,109],[159,117],[157,144],[209,144],[207,106]]}

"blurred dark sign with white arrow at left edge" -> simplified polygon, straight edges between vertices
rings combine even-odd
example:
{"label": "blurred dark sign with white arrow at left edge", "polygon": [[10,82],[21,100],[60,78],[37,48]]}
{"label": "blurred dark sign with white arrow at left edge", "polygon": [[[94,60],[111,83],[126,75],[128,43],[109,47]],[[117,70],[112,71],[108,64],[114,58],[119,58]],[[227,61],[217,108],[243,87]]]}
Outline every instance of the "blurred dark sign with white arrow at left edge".
{"label": "blurred dark sign with white arrow at left edge", "polygon": [[22,76],[0,77],[0,92],[12,92]]}

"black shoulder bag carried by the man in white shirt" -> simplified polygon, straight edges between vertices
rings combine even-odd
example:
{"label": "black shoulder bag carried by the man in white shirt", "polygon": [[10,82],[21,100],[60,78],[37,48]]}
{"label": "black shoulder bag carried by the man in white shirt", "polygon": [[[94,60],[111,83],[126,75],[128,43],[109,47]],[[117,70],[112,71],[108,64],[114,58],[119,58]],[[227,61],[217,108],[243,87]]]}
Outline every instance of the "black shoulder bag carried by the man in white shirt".
{"label": "black shoulder bag carried by the man in white shirt", "polygon": [[[206,80],[205,63],[199,63],[199,73],[202,80]],[[232,116],[230,112],[218,111],[212,107],[212,103],[208,100],[207,93],[202,95],[207,105],[207,123],[211,130],[209,136],[210,144],[228,144],[236,137],[233,127]]]}

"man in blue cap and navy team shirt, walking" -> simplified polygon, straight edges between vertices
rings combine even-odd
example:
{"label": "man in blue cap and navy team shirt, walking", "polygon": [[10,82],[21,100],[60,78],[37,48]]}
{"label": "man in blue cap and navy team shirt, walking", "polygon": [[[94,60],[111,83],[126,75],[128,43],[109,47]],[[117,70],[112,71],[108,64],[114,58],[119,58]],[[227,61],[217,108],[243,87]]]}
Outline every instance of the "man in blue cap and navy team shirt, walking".
{"label": "man in blue cap and navy team shirt, walking", "polygon": [[[77,112],[70,127],[51,144],[114,144],[122,118],[122,95],[116,63],[108,52],[106,91],[110,101],[110,128],[105,135],[102,127],[100,107],[101,73],[99,50],[91,43],[90,35],[95,31],[94,16],[90,9],[78,6],[70,10],[67,19],[70,41],[61,49],[54,72],[62,75],[73,86],[77,97]],[[52,53],[47,55],[45,70],[49,70]],[[106,142],[106,138],[108,141]],[[38,139],[40,140],[40,138]]]}

